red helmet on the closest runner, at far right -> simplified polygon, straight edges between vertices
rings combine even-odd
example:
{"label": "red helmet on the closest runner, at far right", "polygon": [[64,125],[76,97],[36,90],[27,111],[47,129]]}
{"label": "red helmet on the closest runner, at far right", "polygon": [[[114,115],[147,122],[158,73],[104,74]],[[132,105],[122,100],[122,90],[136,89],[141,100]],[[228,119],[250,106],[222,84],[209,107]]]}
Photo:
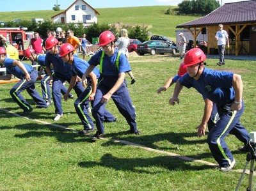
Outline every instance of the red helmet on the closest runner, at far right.
{"label": "red helmet on the closest runner, at far right", "polygon": [[193,66],[198,63],[204,62],[206,59],[206,56],[204,52],[201,49],[194,48],[188,50],[184,57],[184,63],[186,66]]}

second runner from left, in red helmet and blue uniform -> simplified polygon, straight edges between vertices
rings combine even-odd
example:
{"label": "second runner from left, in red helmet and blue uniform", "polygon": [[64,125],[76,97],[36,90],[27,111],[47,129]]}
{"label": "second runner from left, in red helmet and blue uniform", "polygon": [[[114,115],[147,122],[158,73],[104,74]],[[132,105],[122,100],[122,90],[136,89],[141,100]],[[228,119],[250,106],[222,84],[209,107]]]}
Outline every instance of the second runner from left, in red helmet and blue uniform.
{"label": "second runner from left, in red helmet and blue uniform", "polygon": [[[36,62],[36,63],[38,63],[41,66],[40,72],[41,72],[41,70],[45,70],[46,69],[46,66],[44,64],[45,54],[36,54],[34,49],[28,48],[25,51],[25,56],[28,57],[28,59],[31,62]],[[54,75],[53,69],[52,69],[51,72],[52,72],[52,75]],[[52,104],[51,88],[50,88],[49,82],[50,82],[50,77],[46,73],[45,76],[41,79],[41,88],[42,88],[43,99],[45,100],[47,105],[51,105]],[[63,85],[63,87],[61,88],[61,94],[65,95],[65,93],[67,93],[67,88]],[[68,97],[69,98],[74,98],[74,96],[71,93],[69,93]]]}

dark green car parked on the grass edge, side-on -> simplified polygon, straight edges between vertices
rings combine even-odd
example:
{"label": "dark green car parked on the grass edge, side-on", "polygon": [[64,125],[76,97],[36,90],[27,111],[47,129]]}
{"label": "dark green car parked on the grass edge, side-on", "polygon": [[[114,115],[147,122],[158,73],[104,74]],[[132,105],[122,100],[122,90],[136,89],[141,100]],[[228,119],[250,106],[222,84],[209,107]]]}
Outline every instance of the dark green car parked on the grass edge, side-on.
{"label": "dark green car parked on the grass edge, side-on", "polygon": [[178,52],[179,48],[177,46],[173,46],[172,44],[161,41],[161,40],[148,40],[146,42],[143,42],[140,45],[137,45],[137,51],[138,54],[144,55],[144,54],[176,54]]}

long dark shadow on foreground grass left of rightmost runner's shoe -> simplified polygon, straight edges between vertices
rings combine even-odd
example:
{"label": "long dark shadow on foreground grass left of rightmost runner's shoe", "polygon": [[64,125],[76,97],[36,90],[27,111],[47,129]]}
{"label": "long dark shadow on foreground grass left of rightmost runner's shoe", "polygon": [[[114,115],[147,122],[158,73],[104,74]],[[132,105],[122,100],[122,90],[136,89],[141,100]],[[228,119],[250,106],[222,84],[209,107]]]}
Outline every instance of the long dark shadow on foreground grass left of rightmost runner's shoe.
{"label": "long dark shadow on foreground grass left of rightmost runner's shoe", "polygon": [[[169,171],[202,171],[205,169],[212,169],[209,165],[193,165],[193,162],[185,160],[177,160],[174,157],[152,157],[152,158],[117,158],[110,153],[102,156],[100,162],[86,161],[80,162],[78,165],[84,168],[91,168],[95,166],[108,167],[116,171],[131,171],[136,173],[156,174],[164,172],[164,170],[157,170],[157,168],[168,169]],[[152,171],[148,167],[154,167]]]}

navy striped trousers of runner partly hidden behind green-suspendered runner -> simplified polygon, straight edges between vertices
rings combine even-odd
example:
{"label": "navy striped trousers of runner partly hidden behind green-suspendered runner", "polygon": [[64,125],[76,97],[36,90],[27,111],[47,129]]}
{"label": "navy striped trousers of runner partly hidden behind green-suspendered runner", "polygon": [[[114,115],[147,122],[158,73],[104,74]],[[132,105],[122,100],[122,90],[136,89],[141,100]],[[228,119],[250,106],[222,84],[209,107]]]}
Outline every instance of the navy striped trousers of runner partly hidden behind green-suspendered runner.
{"label": "navy striped trousers of runner partly hidden behind green-suspendered runner", "polygon": [[[87,86],[87,88],[81,93],[81,95],[77,98],[76,102],[74,103],[77,115],[79,119],[82,121],[84,129],[92,129],[95,128],[92,118],[90,114],[86,111],[86,108],[89,107],[89,95],[91,93],[92,86]],[[115,117],[111,112],[105,109],[104,113],[104,121],[113,122],[115,121]]]}

